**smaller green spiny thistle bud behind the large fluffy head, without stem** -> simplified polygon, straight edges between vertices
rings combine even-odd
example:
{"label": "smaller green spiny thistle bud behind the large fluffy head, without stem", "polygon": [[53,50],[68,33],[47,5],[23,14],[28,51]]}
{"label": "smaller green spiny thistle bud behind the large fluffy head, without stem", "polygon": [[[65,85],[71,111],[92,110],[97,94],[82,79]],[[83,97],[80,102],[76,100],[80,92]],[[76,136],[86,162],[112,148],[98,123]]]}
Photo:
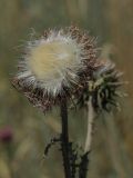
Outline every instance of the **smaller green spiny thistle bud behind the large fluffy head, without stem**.
{"label": "smaller green spiny thistle bud behind the large fluffy head, without stem", "polygon": [[104,61],[103,66],[93,72],[93,79],[89,81],[88,88],[82,92],[76,103],[82,107],[88,102],[89,97],[92,96],[92,105],[95,111],[111,111],[112,106],[120,109],[120,103],[116,99],[125,96],[119,89],[125,83],[120,80],[122,75],[122,72],[115,69],[113,62]]}

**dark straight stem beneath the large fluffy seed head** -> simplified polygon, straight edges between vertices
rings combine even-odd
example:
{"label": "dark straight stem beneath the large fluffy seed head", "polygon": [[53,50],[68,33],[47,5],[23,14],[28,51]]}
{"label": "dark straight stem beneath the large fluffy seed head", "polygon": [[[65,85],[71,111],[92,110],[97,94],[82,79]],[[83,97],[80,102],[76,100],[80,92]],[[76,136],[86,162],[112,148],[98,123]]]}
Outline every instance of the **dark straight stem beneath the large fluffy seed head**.
{"label": "dark straight stem beneath the large fluffy seed head", "polygon": [[68,106],[66,98],[61,101],[61,119],[62,119],[62,134],[61,134],[61,146],[63,156],[63,166],[65,178],[71,178],[70,167],[70,154],[69,154],[69,132],[68,132]]}

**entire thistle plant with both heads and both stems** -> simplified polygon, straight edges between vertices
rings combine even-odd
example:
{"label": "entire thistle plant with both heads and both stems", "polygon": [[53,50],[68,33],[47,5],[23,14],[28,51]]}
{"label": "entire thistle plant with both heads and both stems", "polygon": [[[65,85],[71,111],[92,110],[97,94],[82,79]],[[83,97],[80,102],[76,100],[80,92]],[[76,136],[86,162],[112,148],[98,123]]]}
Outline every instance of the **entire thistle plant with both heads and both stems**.
{"label": "entire thistle plant with both heads and both stems", "polygon": [[[12,85],[43,112],[60,107],[62,131],[52,138],[44,154],[59,144],[64,177],[86,178],[94,112],[117,106],[115,97],[120,73],[112,63],[99,59],[96,38],[78,27],[47,30],[29,41],[18,65]],[[69,139],[68,109],[88,106],[89,123],[85,147]]]}

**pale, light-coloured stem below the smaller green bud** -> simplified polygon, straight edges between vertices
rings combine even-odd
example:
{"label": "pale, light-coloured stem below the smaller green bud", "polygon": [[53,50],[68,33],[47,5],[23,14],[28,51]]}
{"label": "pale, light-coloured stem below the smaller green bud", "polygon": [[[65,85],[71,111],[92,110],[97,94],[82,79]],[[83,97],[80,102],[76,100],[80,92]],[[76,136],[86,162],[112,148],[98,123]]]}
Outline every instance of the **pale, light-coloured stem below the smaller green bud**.
{"label": "pale, light-coloured stem below the smaller green bud", "polygon": [[92,96],[90,96],[90,99],[88,101],[88,132],[86,132],[84,152],[89,152],[91,150],[93,120],[94,120],[94,109],[92,106]]}

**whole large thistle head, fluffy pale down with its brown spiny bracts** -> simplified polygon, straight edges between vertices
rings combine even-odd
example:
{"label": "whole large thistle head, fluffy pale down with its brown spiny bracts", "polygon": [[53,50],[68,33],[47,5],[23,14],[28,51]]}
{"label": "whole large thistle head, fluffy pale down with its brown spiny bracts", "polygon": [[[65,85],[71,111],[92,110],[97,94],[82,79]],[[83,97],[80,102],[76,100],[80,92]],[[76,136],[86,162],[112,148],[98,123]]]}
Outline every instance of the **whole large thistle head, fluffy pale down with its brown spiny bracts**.
{"label": "whole large thistle head, fluffy pale down with its brown spiny bracts", "polygon": [[62,97],[82,93],[101,66],[95,42],[76,27],[44,31],[28,42],[13,86],[43,111]]}

